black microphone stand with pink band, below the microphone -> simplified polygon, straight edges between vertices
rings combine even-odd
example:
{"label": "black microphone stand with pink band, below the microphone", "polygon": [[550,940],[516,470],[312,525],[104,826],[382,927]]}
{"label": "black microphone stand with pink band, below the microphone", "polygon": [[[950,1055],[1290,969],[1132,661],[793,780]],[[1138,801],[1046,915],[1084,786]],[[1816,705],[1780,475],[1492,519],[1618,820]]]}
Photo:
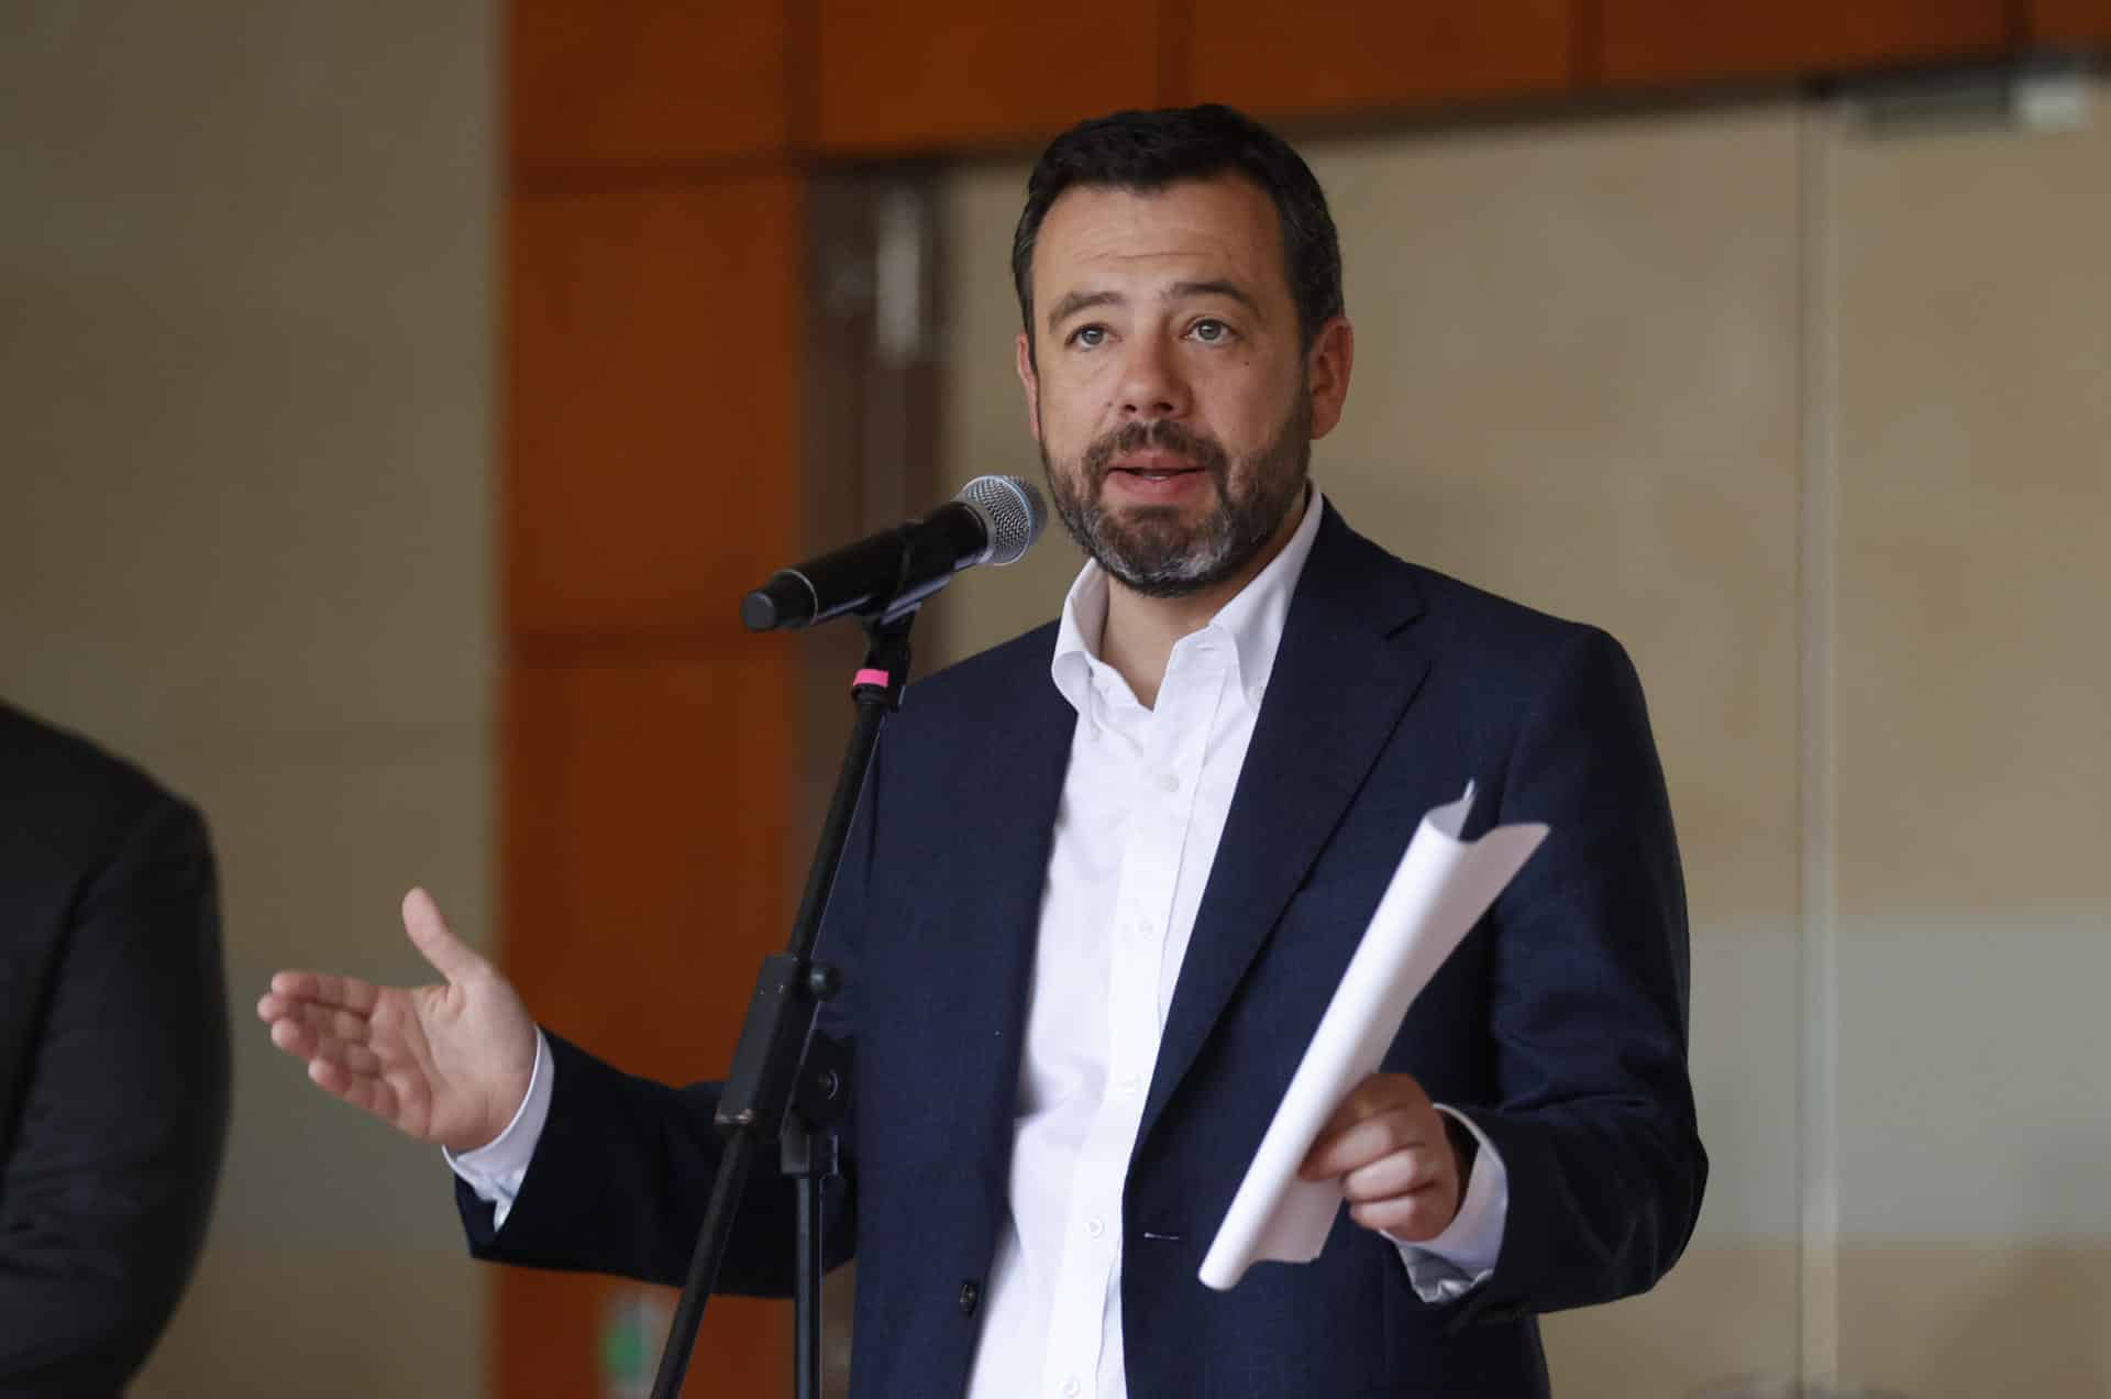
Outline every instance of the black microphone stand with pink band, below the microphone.
{"label": "black microphone stand with pink band, below the microphone", "polygon": [[849,1052],[823,1033],[813,1019],[821,1002],[842,989],[842,974],[813,959],[821,913],[842,864],[842,847],[851,837],[851,816],[866,786],[866,767],[880,740],[880,725],[901,708],[901,687],[910,670],[910,623],[916,604],[899,615],[866,617],[866,664],[851,683],[857,723],[836,776],[836,795],[828,803],[821,841],[806,873],[806,892],[792,924],[785,951],[762,962],[756,995],[747,1004],[739,1046],[733,1050],[733,1071],[718,1099],[716,1126],[726,1137],[726,1152],[711,1181],[711,1198],[703,1213],[697,1251],[690,1255],[688,1281],[667,1329],[652,1399],[678,1399],[688,1374],[690,1350],[703,1306],[718,1281],[741,1190],[756,1154],[777,1143],[779,1169],[794,1181],[798,1196],[796,1270],[794,1270],[794,1393],[798,1399],[821,1399],[821,1183],[838,1173],[834,1124],[851,1097]]}

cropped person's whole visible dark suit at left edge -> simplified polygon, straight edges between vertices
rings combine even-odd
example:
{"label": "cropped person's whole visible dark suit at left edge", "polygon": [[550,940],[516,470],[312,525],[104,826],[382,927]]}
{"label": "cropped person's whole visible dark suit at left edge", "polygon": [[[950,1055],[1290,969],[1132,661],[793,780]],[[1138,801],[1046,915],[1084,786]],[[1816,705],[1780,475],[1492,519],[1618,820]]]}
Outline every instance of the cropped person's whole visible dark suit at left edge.
{"label": "cropped person's whole visible dark suit at left edge", "polygon": [[137,1372],[226,1124],[203,818],[0,704],[0,1395],[112,1395]]}

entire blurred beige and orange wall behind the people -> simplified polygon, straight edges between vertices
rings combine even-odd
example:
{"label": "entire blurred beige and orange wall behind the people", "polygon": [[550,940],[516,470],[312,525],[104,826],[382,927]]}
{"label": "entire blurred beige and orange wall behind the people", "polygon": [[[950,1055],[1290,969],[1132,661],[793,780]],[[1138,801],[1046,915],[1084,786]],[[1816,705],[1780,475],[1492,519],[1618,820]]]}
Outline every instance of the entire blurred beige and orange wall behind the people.
{"label": "entire blurred beige and orange wall behind the people", "polygon": [[[1321,486],[1613,628],[1666,750],[1716,1179],[1657,1293],[1552,1319],[1560,1393],[2111,1391],[2111,93],[2014,80],[2111,4],[30,0],[0,40],[0,693],[205,805],[239,1016],[274,966],[420,976],[426,881],[555,1029],[724,1063],[844,708],[840,638],[733,600],[1037,475],[1024,163],[1226,99],[1345,235]],[[920,668],[1074,566],[950,590]],[[236,1074],[141,1395],[627,1393],[663,1298],[471,1270],[431,1152],[247,1019]],[[783,1312],[701,1350],[768,1393]]]}

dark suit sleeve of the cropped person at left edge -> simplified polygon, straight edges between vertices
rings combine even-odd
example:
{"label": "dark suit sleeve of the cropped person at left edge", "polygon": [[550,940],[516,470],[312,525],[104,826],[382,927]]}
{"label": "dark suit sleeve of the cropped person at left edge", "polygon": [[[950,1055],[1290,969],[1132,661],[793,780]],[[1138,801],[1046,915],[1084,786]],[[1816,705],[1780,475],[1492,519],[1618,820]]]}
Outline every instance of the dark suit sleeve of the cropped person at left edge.
{"label": "dark suit sleeve of the cropped person at left edge", "polygon": [[23,1067],[0,1395],[116,1393],[190,1279],[228,1133],[217,890],[188,805],[156,799],[82,881]]}

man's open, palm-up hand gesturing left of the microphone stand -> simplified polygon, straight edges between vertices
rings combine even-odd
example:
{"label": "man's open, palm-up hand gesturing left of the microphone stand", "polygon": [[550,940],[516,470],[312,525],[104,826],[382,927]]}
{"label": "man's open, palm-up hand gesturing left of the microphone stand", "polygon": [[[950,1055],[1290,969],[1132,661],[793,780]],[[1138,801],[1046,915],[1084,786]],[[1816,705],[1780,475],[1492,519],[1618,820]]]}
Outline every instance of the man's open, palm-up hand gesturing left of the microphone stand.
{"label": "man's open, palm-up hand gesturing left of the microphone stand", "polygon": [[448,932],[424,890],[403,896],[403,930],[443,983],[376,987],[277,972],[258,1019],[272,1044],[308,1061],[321,1088],[407,1137],[467,1152],[502,1133],[528,1097],[536,1027],[498,968]]}

